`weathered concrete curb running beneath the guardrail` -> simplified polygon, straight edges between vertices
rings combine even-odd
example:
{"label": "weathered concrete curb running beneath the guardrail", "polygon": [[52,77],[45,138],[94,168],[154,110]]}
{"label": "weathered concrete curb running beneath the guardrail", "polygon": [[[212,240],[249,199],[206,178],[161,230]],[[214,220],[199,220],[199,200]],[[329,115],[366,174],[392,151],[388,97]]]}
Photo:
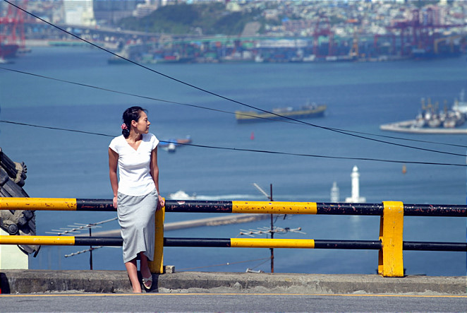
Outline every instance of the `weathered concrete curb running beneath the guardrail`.
{"label": "weathered concrete curb running beneath the guardrail", "polygon": [[[153,293],[467,295],[466,276],[180,272],[153,275]],[[2,270],[1,293],[131,293],[126,271]]]}

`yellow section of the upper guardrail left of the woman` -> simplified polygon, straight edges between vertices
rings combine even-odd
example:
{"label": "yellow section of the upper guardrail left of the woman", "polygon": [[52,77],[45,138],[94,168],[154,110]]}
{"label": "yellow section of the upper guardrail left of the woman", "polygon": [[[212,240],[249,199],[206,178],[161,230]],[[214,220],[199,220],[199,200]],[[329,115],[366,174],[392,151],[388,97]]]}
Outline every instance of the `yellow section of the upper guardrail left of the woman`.
{"label": "yellow section of the upper guardrail left of the woman", "polygon": [[71,198],[0,198],[0,210],[76,211]]}

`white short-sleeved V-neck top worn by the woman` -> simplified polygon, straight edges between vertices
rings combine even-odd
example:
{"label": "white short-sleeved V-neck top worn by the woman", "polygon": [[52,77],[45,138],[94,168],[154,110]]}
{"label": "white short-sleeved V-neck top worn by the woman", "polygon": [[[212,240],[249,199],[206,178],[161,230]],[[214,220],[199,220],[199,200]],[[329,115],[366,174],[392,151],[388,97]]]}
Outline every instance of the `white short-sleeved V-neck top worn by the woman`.
{"label": "white short-sleeved V-neck top worn by the woman", "polygon": [[128,196],[143,196],[154,188],[150,174],[151,152],[159,140],[154,134],[142,134],[142,142],[135,150],[123,135],[115,137],[109,148],[119,154],[119,192]]}

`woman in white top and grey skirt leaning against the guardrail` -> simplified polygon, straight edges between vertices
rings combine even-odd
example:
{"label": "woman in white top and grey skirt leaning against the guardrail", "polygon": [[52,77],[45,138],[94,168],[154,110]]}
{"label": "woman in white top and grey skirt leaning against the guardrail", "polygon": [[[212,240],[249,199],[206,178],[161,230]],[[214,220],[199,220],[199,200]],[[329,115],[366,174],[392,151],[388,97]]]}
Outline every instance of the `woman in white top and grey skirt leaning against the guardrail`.
{"label": "woman in white top and grey skirt leaning against the guardrail", "polygon": [[128,108],[123,112],[122,136],[114,138],[109,145],[110,184],[123,237],[123,262],[133,293],[141,293],[138,255],[142,285],[147,290],[152,286],[147,261],[154,258],[154,213],[165,205],[159,194],[159,140],[149,133],[150,124],[142,107]]}

